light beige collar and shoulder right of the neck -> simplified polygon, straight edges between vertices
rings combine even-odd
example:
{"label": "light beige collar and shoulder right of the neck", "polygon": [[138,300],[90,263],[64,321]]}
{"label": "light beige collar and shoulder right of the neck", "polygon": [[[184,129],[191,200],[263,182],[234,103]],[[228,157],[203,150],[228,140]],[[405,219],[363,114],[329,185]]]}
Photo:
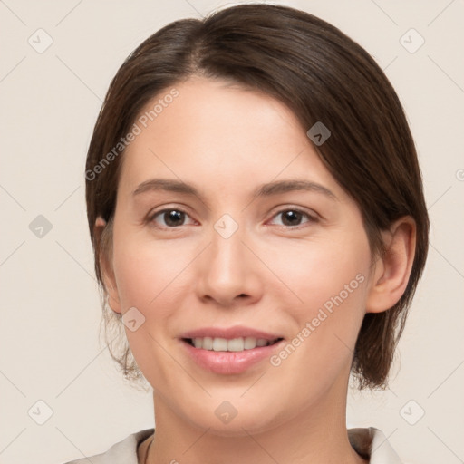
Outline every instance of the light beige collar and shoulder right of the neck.
{"label": "light beige collar and shoulder right of the neck", "polygon": [[391,448],[390,442],[382,430],[349,429],[348,438],[353,449],[369,459],[369,464],[401,464],[401,459]]}

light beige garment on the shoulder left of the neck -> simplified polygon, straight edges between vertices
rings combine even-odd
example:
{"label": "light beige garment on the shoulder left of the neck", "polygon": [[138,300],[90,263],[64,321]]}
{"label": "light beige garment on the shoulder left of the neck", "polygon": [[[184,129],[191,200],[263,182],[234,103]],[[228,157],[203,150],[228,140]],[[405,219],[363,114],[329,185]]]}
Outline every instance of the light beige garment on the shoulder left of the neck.
{"label": "light beige garment on the shoulder left of the neck", "polygon": [[75,459],[64,464],[138,464],[137,447],[139,444],[153,434],[154,429],[140,430],[131,433],[124,440],[118,441],[107,451],[94,456],[84,456],[81,459]]}

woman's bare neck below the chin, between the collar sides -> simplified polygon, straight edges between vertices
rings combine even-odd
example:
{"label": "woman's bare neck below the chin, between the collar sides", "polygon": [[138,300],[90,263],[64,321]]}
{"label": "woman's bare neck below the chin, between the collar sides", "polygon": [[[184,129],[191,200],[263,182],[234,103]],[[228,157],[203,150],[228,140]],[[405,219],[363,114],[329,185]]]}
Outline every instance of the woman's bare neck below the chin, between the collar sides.
{"label": "woman's bare neck below the chin, between the collar sides", "polygon": [[340,391],[332,393],[271,429],[248,433],[244,425],[237,427],[237,435],[225,437],[179,416],[155,391],[156,432],[146,462],[366,464],[348,440],[346,388],[343,395]]}

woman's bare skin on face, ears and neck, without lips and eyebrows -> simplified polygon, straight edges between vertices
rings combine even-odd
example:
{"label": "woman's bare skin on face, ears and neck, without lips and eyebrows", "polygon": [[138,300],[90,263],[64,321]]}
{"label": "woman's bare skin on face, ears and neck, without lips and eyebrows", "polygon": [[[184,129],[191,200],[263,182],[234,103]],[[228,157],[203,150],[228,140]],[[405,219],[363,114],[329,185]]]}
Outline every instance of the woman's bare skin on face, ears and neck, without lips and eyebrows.
{"label": "woman's bare skin on face, ears and neck, without lips and eyebrows", "polygon": [[[364,314],[388,310],[406,288],[413,220],[393,224],[383,234],[390,251],[372,261],[360,209],[283,103],[225,81],[175,87],[179,97],[124,153],[113,246],[102,256],[112,310],[135,306],[145,317],[126,334],[153,387],[147,462],[366,462],[345,426],[353,347]],[[133,195],[153,178],[181,179],[204,198]],[[295,190],[252,200],[259,185],[283,179],[311,180],[335,198]],[[169,228],[169,217],[153,217],[163,208],[187,214]],[[295,208],[309,216],[285,221]],[[226,213],[238,225],[228,238],[214,228]],[[97,233],[104,225],[99,218]],[[240,324],[291,342],[356,275],[362,284],[278,367],[266,359],[241,374],[208,372],[179,341],[191,329]],[[215,415],[223,401],[237,410],[227,424]]]}

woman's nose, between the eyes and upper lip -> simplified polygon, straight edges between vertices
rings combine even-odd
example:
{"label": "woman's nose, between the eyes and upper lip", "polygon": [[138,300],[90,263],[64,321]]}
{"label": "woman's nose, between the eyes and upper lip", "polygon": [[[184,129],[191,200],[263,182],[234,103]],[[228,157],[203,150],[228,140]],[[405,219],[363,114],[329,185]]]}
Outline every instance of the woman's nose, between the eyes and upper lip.
{"label": "woman's nose, between the eyes and upper lip", "polygon": [[213,228],[209,246],[198,256],[196,286],[200,299],[233,307],[261,298],[263,265],[250,250],[249,242],[244,227],[238,227],[230,237]]}

